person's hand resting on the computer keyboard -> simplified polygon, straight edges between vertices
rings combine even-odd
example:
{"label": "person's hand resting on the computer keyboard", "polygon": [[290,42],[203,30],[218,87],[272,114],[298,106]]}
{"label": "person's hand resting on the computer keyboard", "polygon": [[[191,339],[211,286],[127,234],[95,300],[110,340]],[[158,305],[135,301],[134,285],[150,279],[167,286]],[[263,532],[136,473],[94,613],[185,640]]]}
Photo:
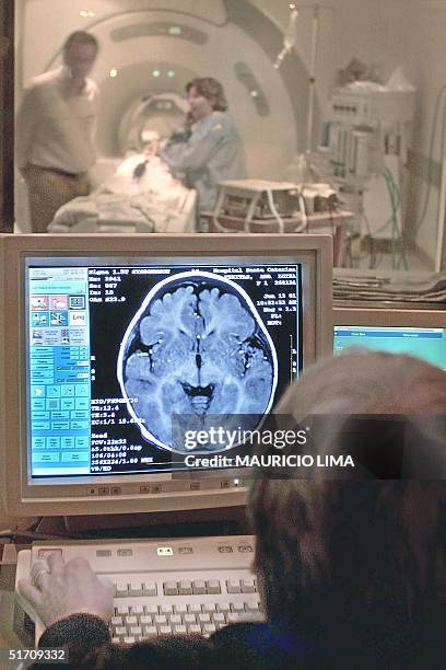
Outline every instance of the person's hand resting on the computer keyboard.
{"label": "person's hand resting on the computer keyboard", "polygon": [[50,554],[33,564],[31,580],[22,579],[19,589],[46,626],[80,612],[106,621],[113,614],[115,587],[98,579],[85,558],[66,563],[59,553]]}

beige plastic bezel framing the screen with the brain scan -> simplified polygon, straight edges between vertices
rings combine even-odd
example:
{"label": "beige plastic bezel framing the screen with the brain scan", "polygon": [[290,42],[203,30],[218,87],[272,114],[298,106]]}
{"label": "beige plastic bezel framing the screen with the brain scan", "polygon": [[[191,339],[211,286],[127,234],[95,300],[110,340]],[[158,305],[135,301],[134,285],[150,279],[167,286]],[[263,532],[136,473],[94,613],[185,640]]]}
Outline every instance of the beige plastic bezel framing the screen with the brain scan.
{"label": "beige plastic bezel framing the screen with the brain scan", "polygon": [[[231,478],[227,472],[207,473],[200,489],[191,490],[200,477],[175,477],[175,485],[164,475],[161,490],[156,474],[101,477],[94,485],[55,481],[30,483],[26,441],[26,353],[25,353],[25,287],[24,261],[39,255],[74,255],[82,257],[116,257],[122,259],[146,256],[238,256],[296,257],[307,262],[303,272],[303,299],[314,302],[316,320],[304,327],[304,361],[307,366],[332,348],[331,282],[332,240],[329,235],[263,235],[263,234],[151,234],[151,235],[2,235],[0,238],[2,273],[0,279],[2,308],[2,355],[0,361],[2,397],[4,506],[11,516],[60,516],[97,513],[134,513],[174,509],[202,509],[243,505],[246,480]],[[8,305],[8,310],[7,310]],[[303,307],[305,311],[305,304]],[[316,334],[320,336],[317,337]],[[19,346],[17,346],[19,343]],[[8,425],[7,425],[8,420]],[[14,446],[19,444],[16,449]],[[239,473],[233,473],[232,477]],[[149,480],[149,481],[148,481]],[[70,488],[72,486],[73,488]],[[99,495],[106,487],[115,495]],[[142,494],[145,486],[149,493]],[[179,487],[179,489],[178,489]],[[81,495],[81,488],[83,495]],[[95,488],[95,493],[87,489]],[[167,490],[166,490],[167,489]],[[67,495],[71,493],[71,495]],[[78,494],[78,495],[73,495]],[[218,495],[215,495],[218,494]]]}

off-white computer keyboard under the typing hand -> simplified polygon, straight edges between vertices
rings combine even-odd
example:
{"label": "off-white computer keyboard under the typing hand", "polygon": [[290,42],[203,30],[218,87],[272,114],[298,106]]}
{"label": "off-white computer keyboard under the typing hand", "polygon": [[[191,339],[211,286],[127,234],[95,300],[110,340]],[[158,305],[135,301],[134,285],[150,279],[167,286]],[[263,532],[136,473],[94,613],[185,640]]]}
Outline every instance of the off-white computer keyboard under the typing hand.
{"label": "off-white computer keyboard under the typing hand", "polygon": [[[115,584],[115,643],[171,634],[209,636],[228,623],[262,619],[250,535],[37,543],[20,552],[15,584],[28,578],[35,561],[54,552],[64,561],[87,558],[99,578]],[[42,622],[17,590],[16,599],[35,622],[38,639]]]}

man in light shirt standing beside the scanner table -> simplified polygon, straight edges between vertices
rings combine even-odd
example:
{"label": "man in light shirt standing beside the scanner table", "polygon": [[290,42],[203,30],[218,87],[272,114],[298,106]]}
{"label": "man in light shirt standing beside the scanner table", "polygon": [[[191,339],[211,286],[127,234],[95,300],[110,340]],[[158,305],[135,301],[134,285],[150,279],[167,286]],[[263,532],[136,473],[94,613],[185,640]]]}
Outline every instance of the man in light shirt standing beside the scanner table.
{"label": "man in light shirt standing beside the scanner table", "polygon": [[16,163],[28,188],[33,232],[47,232],[59,207],[89,195],[98,88],[87,76],[97,51],[96,37],[72,33],[63,45],[63,65],[33,79],[25,91],[16,119]]}

